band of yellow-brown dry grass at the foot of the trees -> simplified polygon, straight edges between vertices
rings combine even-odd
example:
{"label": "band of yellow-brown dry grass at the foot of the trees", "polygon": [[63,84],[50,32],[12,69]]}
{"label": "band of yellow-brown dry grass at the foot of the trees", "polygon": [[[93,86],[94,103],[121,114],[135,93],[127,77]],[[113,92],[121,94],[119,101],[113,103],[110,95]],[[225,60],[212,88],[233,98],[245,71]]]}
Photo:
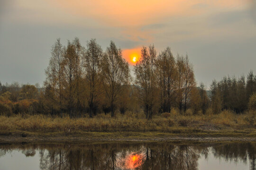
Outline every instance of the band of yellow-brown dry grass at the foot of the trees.
{"label": "band of yellow-brown dry grass at the foot of the trees", "polygon": [[37,132],[173,132],[175,128],[188,127],[196,129],[202,126],[214,126],[218,129],[243,129],[256,127],[255,115],[255,111],[235,114],[228,110],[224,110],[220,114],[206,115],[179,115],[175,110],[171,110],[171,113],[155,116],[152,120],[145,119],[143,113],[132,112],[127,112],[125,115],[117,114],[114,118],[110,118],[109,114],[100,114],[91,119],[16,115],[12,117],[0,116],[0,130]]}

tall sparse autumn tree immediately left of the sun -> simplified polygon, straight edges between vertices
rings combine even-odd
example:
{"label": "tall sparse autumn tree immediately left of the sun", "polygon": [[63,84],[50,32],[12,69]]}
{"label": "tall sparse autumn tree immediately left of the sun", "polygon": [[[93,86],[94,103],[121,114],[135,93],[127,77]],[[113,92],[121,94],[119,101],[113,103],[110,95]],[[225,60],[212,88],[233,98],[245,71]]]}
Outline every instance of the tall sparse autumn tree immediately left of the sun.
{"label": "tall sparse autumn tree immediately left of the sun", "polygon": [[128,84],[129,66],[128,62],[122,57],[121,49],[118,49],[112,41],[103,55],[101,74],[103,86],[110,102],[111,117],[113,117],[117,97],[122,86]]}

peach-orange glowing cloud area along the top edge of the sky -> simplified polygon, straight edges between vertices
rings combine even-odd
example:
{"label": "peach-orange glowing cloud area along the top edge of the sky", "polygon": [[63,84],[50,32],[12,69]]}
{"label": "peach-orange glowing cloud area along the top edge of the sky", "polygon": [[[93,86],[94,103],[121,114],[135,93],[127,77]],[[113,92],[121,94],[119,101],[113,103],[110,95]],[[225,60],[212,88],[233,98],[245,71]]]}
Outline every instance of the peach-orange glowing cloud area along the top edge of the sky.
{"label": "peach-orange glowing cloud area along the top edge of the sky", "polygon": [[[143,26],[171,16],[191,16],[219,10],[242,8],[242,0],[48,0],[59,10],[92,17],[108,26]],[[195,8],[200,7],[200,8]]]}

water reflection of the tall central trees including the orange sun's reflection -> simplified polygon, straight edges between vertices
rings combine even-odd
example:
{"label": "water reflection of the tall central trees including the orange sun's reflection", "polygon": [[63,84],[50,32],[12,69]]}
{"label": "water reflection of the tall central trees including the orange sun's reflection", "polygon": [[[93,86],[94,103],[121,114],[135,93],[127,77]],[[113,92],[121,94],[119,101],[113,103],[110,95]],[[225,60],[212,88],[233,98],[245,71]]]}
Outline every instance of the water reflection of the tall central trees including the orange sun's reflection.
{"label": "water reflection of the tall central trees including the orange sun's reflection", "polygon": [[[109,147],[110,146],[110,147]],[[196,170],[200,154],[188,145],[98,145],[40,152],[41,170]],[[127,160],[134,159],[134,160]],[[132,161],[132,166],[127,163]]]}

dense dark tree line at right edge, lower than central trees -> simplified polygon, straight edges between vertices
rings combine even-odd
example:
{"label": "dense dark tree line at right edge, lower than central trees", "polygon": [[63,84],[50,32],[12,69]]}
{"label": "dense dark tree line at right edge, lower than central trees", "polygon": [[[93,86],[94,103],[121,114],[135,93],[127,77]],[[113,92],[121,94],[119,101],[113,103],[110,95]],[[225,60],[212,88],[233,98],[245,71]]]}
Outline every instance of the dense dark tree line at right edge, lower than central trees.
{"label": "dense dark tree line at right edge, lower than central trees", "polygon": [[211,106],[215,113],[221,110],[233,110],[241,113],[247,109],[256,110],[256,75],[250,71],[245,76],[224,76],[222,80],[212,81]]}

